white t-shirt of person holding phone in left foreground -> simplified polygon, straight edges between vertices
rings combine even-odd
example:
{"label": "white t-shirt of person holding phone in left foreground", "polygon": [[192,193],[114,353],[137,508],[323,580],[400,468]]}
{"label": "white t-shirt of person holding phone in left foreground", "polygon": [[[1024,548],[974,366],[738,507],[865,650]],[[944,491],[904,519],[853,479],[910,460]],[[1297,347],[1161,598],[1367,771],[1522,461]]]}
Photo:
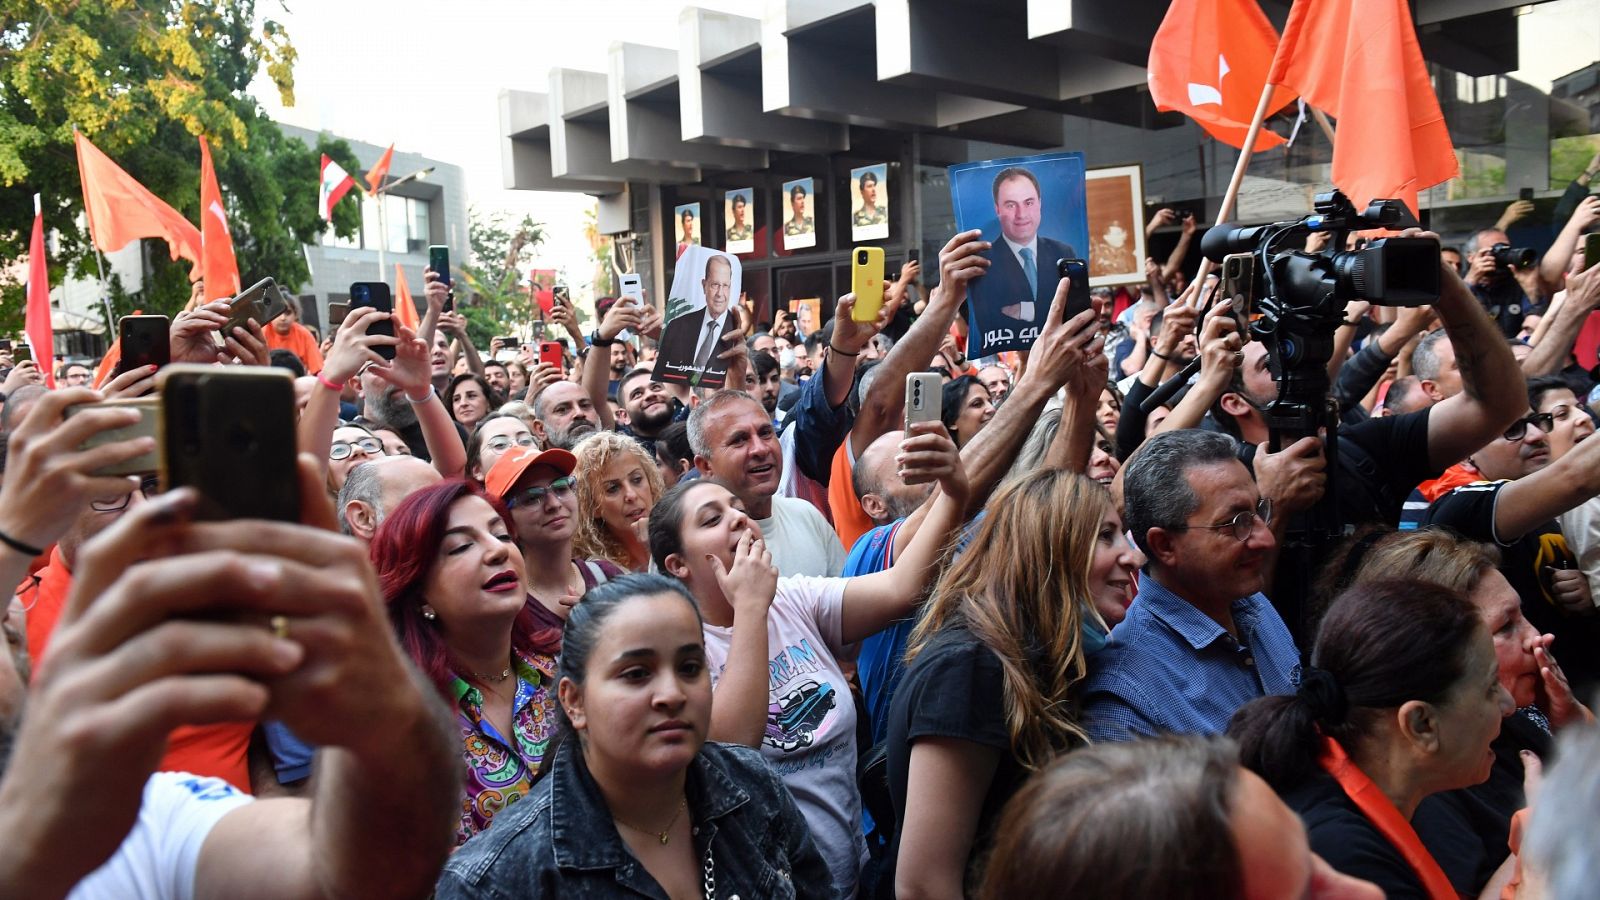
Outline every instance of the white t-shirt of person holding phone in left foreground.
{"label": "white t-shirt of person holding phone in left foreground", "polygon": [[133,830],[67,900],[189,900],[211,828],[254,798],[222,778],[157,772],[144,783]]}

